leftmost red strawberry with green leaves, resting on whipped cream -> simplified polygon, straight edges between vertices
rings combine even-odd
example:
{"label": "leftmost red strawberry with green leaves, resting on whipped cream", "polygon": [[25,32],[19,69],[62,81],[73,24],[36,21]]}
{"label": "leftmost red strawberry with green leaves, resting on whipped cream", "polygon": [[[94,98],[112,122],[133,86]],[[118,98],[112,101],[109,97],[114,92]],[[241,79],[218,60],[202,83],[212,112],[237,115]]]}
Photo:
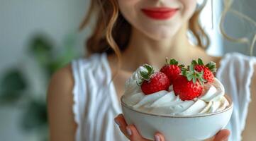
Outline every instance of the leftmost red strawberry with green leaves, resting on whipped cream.
{"label": "leftmost red strawberry with green leaves, resting on whipped cream", "polygon": [[161,90],[168,90],[169,79],[165,73],[155,72],[148,64],[143,65],[147,71],[140,71],[141,79],[137,82],[144,94],[152,94]]}

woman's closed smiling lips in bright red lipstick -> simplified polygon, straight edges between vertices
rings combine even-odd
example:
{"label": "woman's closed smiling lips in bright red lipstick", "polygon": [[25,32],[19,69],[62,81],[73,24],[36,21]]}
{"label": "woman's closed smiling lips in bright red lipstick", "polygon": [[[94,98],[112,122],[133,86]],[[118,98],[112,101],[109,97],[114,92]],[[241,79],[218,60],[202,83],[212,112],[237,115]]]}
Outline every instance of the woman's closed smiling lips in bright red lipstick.
{"label": "woman's closed smiling lips in bright red lipstick", "polygon": [[143,8],[141,11],[143,11],[143,13],[145,13],[149,18],[153,18],[155,20],[167,20],[177,13],[178,8]]}

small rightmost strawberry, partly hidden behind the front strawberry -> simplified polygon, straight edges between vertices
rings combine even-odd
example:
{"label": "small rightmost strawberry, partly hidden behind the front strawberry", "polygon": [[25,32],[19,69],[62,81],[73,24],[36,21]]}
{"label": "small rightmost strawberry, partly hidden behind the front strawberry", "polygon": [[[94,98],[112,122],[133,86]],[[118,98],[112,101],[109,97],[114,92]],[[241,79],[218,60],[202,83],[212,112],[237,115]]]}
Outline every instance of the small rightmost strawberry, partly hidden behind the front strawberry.
{"label": "small rightmost strawberry, partly hidden behind the front strawberry", "polygon": [[204,79],[206,80],[206,82],[213,82],[213,73],[216,73],[216,63],[211,61],[210,63],[207,63],[205,66],[201,59],[198,59],[198,62],[193,60],[192,63],[194,64],[194,69],[196,71],[204,72]]}

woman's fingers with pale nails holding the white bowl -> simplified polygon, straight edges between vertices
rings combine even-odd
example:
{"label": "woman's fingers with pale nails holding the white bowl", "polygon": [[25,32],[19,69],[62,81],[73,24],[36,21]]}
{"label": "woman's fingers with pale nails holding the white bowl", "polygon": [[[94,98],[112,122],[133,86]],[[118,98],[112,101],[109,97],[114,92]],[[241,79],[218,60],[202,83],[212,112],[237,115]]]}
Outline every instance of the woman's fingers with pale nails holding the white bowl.
{"label": "woman's fingers with pale nails holding the white bowl", "polygon": [[[134,125],[127,125],[123,114],[119,114],[115,118],[116,124],[119,126],[121,132],[131,141],[150,141],[143,138]],[[206,141],[227,141],[230,132],[229,130],[221,130],[214,137]],[[165,137],[161,133],[155,133],[155,141],[165,141]]]}

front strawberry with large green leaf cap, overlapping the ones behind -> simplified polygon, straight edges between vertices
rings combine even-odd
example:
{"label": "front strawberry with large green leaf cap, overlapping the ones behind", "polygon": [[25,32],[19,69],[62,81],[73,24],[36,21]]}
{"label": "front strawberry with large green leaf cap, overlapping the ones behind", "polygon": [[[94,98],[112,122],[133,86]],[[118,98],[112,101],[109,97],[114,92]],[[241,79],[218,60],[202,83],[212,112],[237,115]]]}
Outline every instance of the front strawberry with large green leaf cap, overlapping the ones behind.
{"label": "front strawberry with large green leaf cap, overlapping the ones behind", "polygon": [[202,83],[204,82],[203,73],[194,70],[194,65],[189,66],[189,70],[183,70],[173,83],[175,95],[183,101],[199,97],[203,92]]}

